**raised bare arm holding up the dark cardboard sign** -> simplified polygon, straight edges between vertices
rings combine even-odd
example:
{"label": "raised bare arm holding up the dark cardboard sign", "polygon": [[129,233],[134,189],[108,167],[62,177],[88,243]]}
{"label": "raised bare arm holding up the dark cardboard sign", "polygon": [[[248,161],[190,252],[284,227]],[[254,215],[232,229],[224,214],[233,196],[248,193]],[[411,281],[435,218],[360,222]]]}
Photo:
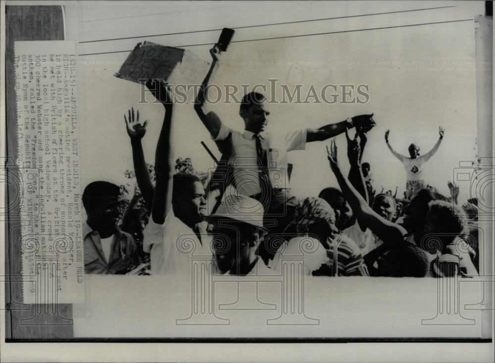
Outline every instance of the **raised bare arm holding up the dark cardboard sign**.
{"label": "raised bare arm holding up the dark cardboard sign", "polygon": [[151,80],[148,81],[146,86],[165,108],[165,118],[163,119],[160,136],[158,137],[158,143],[156,144],[156,185],[153,196],[153,206],[151,208],[153,222],[162,225],[165,222],[165,216],[170,209],[172,197],[172,188],[169,187],[169,185],[173,174],[173,153],[170,140],[173,103],[167,85],[165,85],[163,81]]}

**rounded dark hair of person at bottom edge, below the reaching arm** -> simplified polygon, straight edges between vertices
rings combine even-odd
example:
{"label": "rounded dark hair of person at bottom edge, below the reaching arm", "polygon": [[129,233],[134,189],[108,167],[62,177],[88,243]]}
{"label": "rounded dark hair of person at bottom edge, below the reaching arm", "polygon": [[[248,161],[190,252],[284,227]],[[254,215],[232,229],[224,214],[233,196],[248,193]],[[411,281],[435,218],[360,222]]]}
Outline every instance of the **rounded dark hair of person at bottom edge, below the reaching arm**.
{"label": "rounded dark hair of person at bottom edge, below the reaching arm", "polygon": [[408,242],[392,245],[384,260],[391,277],[425,277],[429,269],[426,252]]}

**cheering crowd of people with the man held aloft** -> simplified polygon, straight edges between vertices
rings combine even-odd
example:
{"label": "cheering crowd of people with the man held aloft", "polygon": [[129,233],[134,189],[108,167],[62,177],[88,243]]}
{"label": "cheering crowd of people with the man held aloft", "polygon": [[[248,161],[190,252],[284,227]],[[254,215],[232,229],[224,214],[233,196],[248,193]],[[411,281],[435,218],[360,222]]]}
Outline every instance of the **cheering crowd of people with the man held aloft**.
{"label": "cheering crowd of people with the man held aloft", "polygon": [[[397,197],[398,187],[395,193],[384,192],[383,186],[377,192],[372,165],[361,162],[367,135],[376,125],[373,114],[272,135],[265,131],[270,115],[265,96],[250,92],[239,110],[245,129],[232,130],[205,102],[219,64],[217,45],[210,54],[211,67],[194,108],[222,154],[217,170],[205,185],[196,175],[173,174],[174,104],[162,80],[148,80],[148,90],[165,108],[155,153],[156,181],[151,182],[141,143],[147,123],[141,123],[139,111],[131,109],[124,119],[140,193],[120,216],[117,185],[94,181],[86,186],[86,273],[190,273],[191,256],[178,248],[184,236],[195,244],[194,253],[211,257],[215,273],[221,274],[276,272],[282,256],[291,253],[302,253],[306,275],[479,273],[477,200],[459,206],[455,183],[447,183],[450,195],[445,196],[423,179],[424,164],[439,149],[443,128],[431,151],[420,156],[419,147],[411,144],[410,157],[392,148],[387,130],[387,146],[406,171],[406,191],[402,198]],[[352,128],[353,138],[348,134]],[[344,153],[338,152],[335,143],[341,134],[347,138]],[[328,158],[338,185],[296,198],[289,187],[287,153],[303,150],[307,142],[328,139],[330,145],[321,157]],[[347,176],[342,173],[343,163],[350,165]],[[310,251],[301,248],[308,243]]]}

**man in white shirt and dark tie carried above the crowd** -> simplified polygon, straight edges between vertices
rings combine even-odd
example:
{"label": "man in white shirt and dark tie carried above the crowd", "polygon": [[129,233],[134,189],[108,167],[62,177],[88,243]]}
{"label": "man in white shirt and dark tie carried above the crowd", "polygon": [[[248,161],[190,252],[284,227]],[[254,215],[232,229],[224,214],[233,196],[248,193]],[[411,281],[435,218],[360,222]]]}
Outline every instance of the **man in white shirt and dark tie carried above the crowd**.
{"label": "man in white shirt and dark tie carried above the crowd", "polygon": [[[272,232],[282,232],[291,222],[297,199],[290,193],[287,152],[303,150],[306,142],[323,141],[345,132],[348,128],[366,132],[375,126],[373,114],[360,115],[347,120],[329,124],[319,129],[299,129],[296,131],[277,132],[269,135],[265,132],[270,112],[265,96],[247,93],[240,105],[239,115],[244,120],[244,132],[233,131],[223,125],[217,114],[205,109],[208,83],[213,70],[218,65],[219,47],[215,45],[210,54],[213,58],[210,70],[206,75],[195,102],[195,110],[210,136],[222,144],[222,140],[232,135],[230,145],[222,145],[222,150],[229,150],[228,165],[233,168],[235,187],[238,192],[258,200],[263,206],[265,226]],[[226,185],[225,185],[226,186]],[[263,255],[265,262],[271,256]]]}

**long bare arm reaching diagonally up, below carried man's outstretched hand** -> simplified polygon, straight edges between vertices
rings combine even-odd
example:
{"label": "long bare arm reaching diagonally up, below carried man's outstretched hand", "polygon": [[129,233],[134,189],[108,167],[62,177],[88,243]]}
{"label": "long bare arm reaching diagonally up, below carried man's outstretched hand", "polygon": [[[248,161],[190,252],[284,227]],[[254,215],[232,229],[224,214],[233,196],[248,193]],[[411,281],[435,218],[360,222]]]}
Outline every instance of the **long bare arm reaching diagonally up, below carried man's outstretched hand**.
{"label": "long bare arm reaching diagonally up, below carried man's outstretched hand", "polygon": [[344,175],[342,175],[337,163],[337,146],[335,144],[335,140],[331,141],[330,149],[327,146],[327,151],[330,167],[337,178],[342,193],[351,206],[357,219],[361,220],[361,223],[370,228],[371,231],[384,243],[397,243],[403,241],[403,236],[407,233],[406,230],[376,214],[366,203],[364,198],[359,195],[357,190],[349,183],[349,181],[347,181]]}

